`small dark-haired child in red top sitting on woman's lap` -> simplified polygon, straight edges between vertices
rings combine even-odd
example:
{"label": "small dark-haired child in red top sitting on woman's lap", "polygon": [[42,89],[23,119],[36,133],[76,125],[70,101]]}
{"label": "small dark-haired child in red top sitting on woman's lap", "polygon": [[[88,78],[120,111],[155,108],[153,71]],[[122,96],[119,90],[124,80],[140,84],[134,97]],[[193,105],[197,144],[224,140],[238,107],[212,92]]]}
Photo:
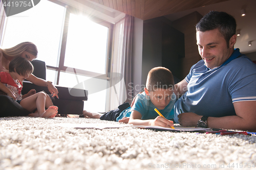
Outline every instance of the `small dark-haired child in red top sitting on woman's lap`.
{"label": "small dark-haired child in red top sitting on woman's lap", "polygon": [[[33,94],[22,99],[22,82],[33,72],[33,65],[25,58],[15,57],[9,64],[9,73],[0,72],[0,90],[11,96],[24,109],[35,113],[29,114],[33,117],[55,117],[58,107],[53,103],[44,91]],[[46,110],[46,107],[48,108]]]}

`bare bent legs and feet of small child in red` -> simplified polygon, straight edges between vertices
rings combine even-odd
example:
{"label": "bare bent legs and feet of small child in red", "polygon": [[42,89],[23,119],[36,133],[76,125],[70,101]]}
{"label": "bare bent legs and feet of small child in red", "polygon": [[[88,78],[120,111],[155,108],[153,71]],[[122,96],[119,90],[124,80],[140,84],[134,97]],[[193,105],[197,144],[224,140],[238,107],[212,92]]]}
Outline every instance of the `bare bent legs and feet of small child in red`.
{"label": "bare bent legs and feet of small child in red", "polygon": [[[38,117],[52,117],[55,116],[58,112],[58,107],[56,106],[50,106],[47,110],[45,110],[46,107],[46,98],[47,94],[45,92],[38,92],[36,94],[33,94],[29,96],[28,98],[25,98],[20,102],[20,105],[27,109],[30,112],[33,112],[36,108],[38,111]],[[48,105],[49,103],[47,103]],[[30,114],[31,116],[36,116],[35,114]]]}

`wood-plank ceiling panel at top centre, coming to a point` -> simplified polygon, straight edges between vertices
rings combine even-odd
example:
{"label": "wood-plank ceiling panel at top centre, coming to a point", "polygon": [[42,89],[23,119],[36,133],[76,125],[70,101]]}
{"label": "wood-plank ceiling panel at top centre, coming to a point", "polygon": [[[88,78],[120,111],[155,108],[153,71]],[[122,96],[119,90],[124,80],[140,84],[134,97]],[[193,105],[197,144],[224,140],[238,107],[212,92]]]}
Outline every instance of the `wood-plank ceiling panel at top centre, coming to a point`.
{"label": "wood-plank ceiling panel at top centre, coming to a point", "polygon": [[91,0],[142,20],[228,0]]}

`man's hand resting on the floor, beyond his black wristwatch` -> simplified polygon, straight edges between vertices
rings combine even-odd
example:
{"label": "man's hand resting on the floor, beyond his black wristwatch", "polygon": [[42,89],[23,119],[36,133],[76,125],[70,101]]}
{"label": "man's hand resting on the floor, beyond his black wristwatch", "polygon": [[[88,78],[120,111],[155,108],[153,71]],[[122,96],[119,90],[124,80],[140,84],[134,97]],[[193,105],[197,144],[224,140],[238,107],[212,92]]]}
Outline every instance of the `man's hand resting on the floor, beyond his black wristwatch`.
{"label": "man's hand resting on the floor, beyond his black wristwatch", "polygon": [[197,127],[197,122],[201,117],[202,116],[192,112],[181,113],[178,115],[179,123],[183,127]]}

